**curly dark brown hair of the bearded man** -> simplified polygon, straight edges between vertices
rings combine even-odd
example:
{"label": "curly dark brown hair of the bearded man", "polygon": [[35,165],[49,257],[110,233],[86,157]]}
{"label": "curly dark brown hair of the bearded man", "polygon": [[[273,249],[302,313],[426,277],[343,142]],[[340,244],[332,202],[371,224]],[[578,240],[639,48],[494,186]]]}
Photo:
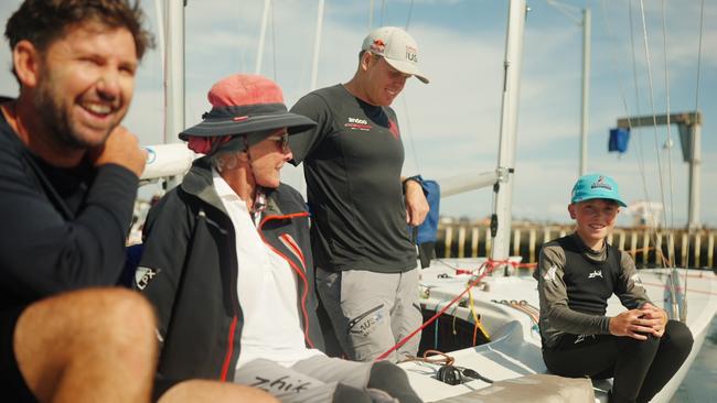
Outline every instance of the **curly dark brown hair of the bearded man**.
{"label": "curly dark brown hair of the bearded man", "polygon": [[133,4],[128,0],[25,0],[8,20],[6,37],[11,50],[28,40],[42,52],[68,26],[90,21],[129,30],[138,59],[154,45],[152,35],[142,28],[145,13],[139,0]]}

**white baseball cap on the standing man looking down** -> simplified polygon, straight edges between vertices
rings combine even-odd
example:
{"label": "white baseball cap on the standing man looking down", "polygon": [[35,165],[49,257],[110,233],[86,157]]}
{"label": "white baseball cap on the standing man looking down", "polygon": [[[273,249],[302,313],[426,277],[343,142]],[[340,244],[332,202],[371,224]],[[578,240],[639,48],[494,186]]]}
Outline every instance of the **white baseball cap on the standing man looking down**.
{"label": "white baseball cap on the standing man looking down", "polygon": [[418,45],[398,26],[382,26],[373,30],[361,46],[362,51],[383,56],[395,69],[410,74],[428,84],[428,78],[418,68]]}

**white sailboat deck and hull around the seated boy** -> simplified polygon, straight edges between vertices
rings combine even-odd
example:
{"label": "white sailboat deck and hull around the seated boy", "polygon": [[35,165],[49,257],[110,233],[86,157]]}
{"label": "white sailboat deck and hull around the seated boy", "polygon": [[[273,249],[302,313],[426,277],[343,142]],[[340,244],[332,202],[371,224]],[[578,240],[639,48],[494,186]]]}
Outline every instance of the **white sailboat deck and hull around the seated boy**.
{"label": "white sailboat deck and hull around the seated boy", "polygon": [[[484,259],[445,260],[425,269],[421,273],[422,307],[428,311],[439,311],[445,307],[465,290],[471,279],[474,279],[470,273],[459,273],[457,268],[470,271],[478,269],[482,262]],[[667,273],[666,270],[640,271],[643,285],[656,305],[664,301]],[[679,273],[682,282],[684,271]],[[454,366],[473,369],[493,381],[531,373],[545,373],[537,326],[528,314],[510,305],[512,301],[524,301],[524,304],[538,307],[536,281],[532,276],[503,276],[502,273],[494,273],[473,287],[471,297],[473,311],[480,315],[481,324],[491,336],[491,341],[456,351],[445,351],[454,358]],[[714,273],[689,271],[687,307],[687,325],[695,337],[693,351],[673,380],[655,396],[654,402],[670,401],[702,347],[707,326],[717,311],[717,276]],[[608,315],[614,315],[623,309],[616,296],[608,302]],[[438,320],[450,320],[452,316],[474,323],[468,294],[461,298],[460,304],[448,308]],[[467,393],[472,393],[478,399],[479,391],[490,385],[481,380],[458,385],[443,383],[436,379],[440,364],[409,361],[400,366],[408,373],[411,385],[427,402],[442,401]],[[606,389],[609,388],[609,383],[596,382],[595,386],[597,400],[607,401]]]}

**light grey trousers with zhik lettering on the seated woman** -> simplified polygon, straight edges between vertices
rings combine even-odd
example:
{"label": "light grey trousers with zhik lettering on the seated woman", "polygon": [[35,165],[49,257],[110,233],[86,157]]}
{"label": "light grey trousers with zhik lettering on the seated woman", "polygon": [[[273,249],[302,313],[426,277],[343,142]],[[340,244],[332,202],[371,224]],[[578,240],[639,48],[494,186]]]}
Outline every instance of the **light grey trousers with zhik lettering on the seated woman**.
{"label": "light grey trousers with zhik lettering on the seated woman", "polygon": [[236,370],[234,382],[261,389],[282,403],[394,402],[388,394],[366,388],[372,368],[372,362],[327,356],[314,356],[290,368],[256,359]]}

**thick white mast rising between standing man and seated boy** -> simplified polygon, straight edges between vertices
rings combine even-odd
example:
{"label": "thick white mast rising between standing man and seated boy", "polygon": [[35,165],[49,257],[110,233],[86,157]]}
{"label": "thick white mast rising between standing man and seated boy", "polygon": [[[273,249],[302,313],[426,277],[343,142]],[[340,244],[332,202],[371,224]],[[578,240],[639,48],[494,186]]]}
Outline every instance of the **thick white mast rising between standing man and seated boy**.
{"label": "thick white mast rising between standing man and seated boy", "polygon": [[[517,138],[517,112],[521,64],[523,56],[523,34],[527,7],[525,0],[509,2],[507,34],[505,40],[505,61],[503,63],[503,100],[501,105],[501,141],[499,144],[499,181],[493,185],[495,193],[494,213],[491,217],[492,260],[509,258],[511,243],[511,206],[513,203],[513,174],[515,167],[515,146]],[[506,274],[507,274],[506,265]]]}

